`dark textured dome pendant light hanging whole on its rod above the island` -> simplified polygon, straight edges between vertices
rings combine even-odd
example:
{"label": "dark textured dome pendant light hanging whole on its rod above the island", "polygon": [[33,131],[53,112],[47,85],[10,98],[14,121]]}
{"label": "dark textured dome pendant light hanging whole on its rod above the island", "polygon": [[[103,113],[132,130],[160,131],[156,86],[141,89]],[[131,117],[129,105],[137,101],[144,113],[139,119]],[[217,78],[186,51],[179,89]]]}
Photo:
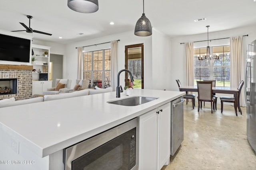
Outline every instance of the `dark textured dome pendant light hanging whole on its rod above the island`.
{"label": "dark textured dome pendant light hanging whole on its rod above the island", "polygon": [[144,0],[143,0],[143,14],[135,25],[134,34],[142,37],[152,35],[151,23],[144,14]]}

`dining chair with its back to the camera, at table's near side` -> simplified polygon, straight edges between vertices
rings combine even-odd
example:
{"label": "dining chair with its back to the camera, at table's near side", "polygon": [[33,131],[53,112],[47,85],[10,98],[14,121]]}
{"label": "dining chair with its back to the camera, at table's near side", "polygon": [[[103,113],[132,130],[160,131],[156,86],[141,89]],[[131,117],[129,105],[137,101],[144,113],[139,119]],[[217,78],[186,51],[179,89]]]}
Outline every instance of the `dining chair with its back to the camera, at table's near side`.
{"label": "dining chair with its back to the camera, at table's near side", "polygon": [[202,109],[202,102],[211,102],[211,109],[212,104],[214,104],[215,98],[212,97],[212,81],[196,81],[197,90],[198,90],[198,111],[201,104]]}

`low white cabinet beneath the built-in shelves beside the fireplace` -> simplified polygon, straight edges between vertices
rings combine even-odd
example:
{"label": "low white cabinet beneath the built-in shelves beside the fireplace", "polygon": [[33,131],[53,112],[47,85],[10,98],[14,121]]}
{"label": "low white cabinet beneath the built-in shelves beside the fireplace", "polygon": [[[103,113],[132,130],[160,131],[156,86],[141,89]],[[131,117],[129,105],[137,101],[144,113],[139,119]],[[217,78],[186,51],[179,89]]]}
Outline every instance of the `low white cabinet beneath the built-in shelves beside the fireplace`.
{"label": "low white cabinet beneath the built-in shelves beside the fireplace", "polygon": [[52,81],[33,81],[32,82],[32,94],[43,94],[47,91],[47,88],[52,87]]}

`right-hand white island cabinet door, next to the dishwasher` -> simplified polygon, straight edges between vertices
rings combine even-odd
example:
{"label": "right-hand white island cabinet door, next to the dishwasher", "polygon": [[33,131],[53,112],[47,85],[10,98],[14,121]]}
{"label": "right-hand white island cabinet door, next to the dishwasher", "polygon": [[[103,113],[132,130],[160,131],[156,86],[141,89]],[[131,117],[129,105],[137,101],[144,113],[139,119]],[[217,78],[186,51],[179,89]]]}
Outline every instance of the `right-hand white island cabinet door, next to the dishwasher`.
{"label": "right-hand white island cabinet door, next to the dishwasher", "polygon": [[170,162],[171,104],[158,108],[158,170]]}

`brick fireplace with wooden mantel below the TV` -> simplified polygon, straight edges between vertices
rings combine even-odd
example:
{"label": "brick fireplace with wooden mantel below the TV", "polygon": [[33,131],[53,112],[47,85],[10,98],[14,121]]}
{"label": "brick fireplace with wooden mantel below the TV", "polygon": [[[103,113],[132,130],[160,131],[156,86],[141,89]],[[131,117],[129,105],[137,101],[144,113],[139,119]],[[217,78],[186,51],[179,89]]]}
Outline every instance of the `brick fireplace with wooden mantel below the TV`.
{"label": "brick fireplace with wooden mantel below the TV", "polygon": [[0,100],[12,97],[16,100],[30,98],[32,96],[32,69],[33,66],[28,65],[0,64],[0,79],[5,81],[15,79],[17,83],[16,94],[0,94]]}

